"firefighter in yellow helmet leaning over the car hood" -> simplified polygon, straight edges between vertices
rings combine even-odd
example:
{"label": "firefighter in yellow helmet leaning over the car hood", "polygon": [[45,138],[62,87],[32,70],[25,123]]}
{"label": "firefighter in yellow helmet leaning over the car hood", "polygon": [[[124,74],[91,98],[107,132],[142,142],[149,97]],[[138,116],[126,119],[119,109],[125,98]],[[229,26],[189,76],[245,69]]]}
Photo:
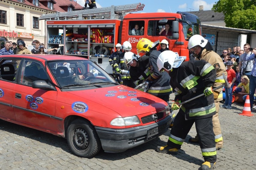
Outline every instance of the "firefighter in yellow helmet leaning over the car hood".
{"label": "firefighter in yellow helmet leaning over the car hood", "polygon": [[[152,82],[148,89],[148,93],[169,102],[169,95],[172,93],[172,87],[169,84],[170,77],[166,72],[159,72],[157,69],[157,58],[161,54],[160,51],[156,50],[156,46],[159,45],[159,40],[151,42],[147,38],[142,38],[137,43],[138,55],[148,56],[149,64],[149,76],[144,79],[144,82]],[[144,56],[142,56],[143,58]]]}

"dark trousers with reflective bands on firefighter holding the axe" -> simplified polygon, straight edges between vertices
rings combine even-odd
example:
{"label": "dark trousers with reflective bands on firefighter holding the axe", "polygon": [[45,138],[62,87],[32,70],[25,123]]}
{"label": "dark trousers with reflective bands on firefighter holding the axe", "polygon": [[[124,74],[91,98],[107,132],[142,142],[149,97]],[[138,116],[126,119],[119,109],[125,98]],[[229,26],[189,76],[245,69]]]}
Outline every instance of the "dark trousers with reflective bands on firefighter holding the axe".
{"label": "dark trousers with reflective bands on firefighter holding the axe", "polygon": [[188,132],[195,123],[204,160],[211,163],[216,162],[217,151],[212,128],[212,116],[203,119],[185,120],[184,114],[180,109],[176,115],[167,145],[171,146],[171,148],[180,149]]}

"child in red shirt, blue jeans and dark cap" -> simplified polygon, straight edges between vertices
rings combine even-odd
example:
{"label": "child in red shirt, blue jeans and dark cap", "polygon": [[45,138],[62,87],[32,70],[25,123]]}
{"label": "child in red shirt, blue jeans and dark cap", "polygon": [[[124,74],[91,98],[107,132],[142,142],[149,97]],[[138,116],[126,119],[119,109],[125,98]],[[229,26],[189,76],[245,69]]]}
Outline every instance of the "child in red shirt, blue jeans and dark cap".
{"label": "child in red shirt, blue jeans and dark cap", "polygon": [[232,91],[233,91],[233,86],[234,82],[236,81],[236,72],[232,69],[233,67],[233,62],[232,61],[227,61],[227,81],[229,82],[228,87],[224,87],[225,89],[225,103],[224,105],[221,105],[220,107],[224,107],[226,109],[231,109],[231,104],[232,104]]}

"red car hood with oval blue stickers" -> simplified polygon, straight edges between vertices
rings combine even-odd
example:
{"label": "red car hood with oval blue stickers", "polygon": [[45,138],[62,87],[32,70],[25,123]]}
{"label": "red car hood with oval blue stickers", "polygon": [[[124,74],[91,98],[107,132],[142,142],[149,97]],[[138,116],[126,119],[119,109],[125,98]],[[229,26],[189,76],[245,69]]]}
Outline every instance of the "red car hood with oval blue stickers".
{"label": "red car hood with oval blue stickers", "polygon": [[100,107],[104,106],[122,117],[135,115],[135,112],[136,115],[148,112],[155,113],[156,110],[167,106],[167,103],[158,97],[124,85],[69,91],[68,93],[78,96],[80,102],[88,105],[88,110],[104,112],[104,110],[100,110]]}

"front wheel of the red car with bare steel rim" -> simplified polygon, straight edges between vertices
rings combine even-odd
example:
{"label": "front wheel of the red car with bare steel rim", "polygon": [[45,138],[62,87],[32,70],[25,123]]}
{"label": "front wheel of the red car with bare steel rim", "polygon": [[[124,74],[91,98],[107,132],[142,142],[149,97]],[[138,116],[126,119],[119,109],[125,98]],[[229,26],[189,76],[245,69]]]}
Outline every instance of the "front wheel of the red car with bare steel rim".
{"label": "front wheel of the red car with bare steel rim", "polygon": [[101,149],[100,139],[89,121],[72,121],[67,130],[67,141],[72,153],[80,157],[93,157]]}

